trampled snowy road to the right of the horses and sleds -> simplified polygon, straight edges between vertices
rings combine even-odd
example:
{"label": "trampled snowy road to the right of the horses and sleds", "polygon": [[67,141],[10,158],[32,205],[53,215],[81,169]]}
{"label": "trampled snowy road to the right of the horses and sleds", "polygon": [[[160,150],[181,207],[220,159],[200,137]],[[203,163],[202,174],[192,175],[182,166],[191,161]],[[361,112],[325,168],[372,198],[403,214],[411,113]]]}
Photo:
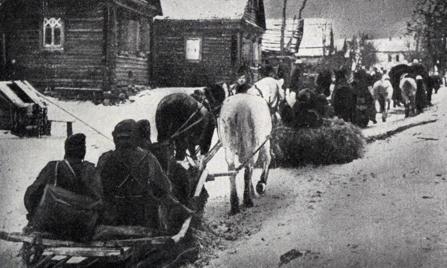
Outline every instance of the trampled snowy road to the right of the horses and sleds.
{"label": "trampled snowy road to the right of the horses and sleds", "polygon": [[437,122],[376,141],[361,159],[273,170],[266,196],[238,217],[208,204],[214,230],[237,237],[207,267],[445,267],[447,102],[437,98],[412,118]]}

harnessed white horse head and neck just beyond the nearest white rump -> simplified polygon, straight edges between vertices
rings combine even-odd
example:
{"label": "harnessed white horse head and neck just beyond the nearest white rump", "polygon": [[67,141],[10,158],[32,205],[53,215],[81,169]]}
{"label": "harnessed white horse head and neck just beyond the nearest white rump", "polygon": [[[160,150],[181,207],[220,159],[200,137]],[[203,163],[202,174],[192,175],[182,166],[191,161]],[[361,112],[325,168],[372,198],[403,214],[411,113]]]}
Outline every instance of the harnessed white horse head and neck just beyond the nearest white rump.
{"label": "harnessed white horse head and neck just beyond the nearest white rump", "polygon": [[254,83],[254,85],[247,90],[248,94],[261,96],[267,102],[273,122],[278,121],[279,106],[285,99],[283,84],[284,79],[277,80],[272,77],[265,77]]}

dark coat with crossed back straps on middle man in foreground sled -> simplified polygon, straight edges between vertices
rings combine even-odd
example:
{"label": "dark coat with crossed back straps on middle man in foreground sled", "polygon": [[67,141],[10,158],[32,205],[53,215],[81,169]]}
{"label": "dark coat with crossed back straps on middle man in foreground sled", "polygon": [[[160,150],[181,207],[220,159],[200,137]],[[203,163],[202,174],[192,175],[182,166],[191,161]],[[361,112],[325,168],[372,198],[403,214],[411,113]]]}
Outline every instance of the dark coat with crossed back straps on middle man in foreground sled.
{"label": "dark coat with crossed back straps on middle man in foreground sled", "polygon": [[[171,229],[191,213],[173,196],[172,184],[160,163],[146,150],[128,148],[104,153],[98,160],[98,170],[104,188],[104,224]],[[160,205],[169,214],[166,222],[160,221]]]}

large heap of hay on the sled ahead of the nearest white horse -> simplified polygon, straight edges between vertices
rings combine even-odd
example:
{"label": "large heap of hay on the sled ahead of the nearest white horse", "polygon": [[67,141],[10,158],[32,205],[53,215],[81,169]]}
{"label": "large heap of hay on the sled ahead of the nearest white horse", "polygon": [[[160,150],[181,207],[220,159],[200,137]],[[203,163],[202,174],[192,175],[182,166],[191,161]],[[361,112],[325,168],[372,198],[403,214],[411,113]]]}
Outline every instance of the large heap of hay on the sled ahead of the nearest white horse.
{"label": "large heap of hay on the sled ahead of the nearest white horse", "polygon": [[366,138],[361,130],[342,119],[324,119],[320,128],[279,127],[272,133],[275,167],[347,163],[361,157]]}

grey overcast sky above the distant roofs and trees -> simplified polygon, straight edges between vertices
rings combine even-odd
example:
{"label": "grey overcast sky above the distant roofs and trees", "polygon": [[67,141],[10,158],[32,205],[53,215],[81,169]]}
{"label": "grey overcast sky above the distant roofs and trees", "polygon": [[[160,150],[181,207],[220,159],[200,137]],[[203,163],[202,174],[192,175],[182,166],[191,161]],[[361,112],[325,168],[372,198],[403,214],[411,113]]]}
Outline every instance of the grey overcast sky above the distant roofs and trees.
{"label": "grey overcast sky above the distant roofs and trees", "polygon": [[[288,17],[298,13],[303,0],[288,0]],[[406,31],[418,0],[308,0],[303,17],[323,17],[334,22],[335,38],[357,32],[375,38],[399,36]],[[283,0],[264,0],[267,18],[280,18]]]}

